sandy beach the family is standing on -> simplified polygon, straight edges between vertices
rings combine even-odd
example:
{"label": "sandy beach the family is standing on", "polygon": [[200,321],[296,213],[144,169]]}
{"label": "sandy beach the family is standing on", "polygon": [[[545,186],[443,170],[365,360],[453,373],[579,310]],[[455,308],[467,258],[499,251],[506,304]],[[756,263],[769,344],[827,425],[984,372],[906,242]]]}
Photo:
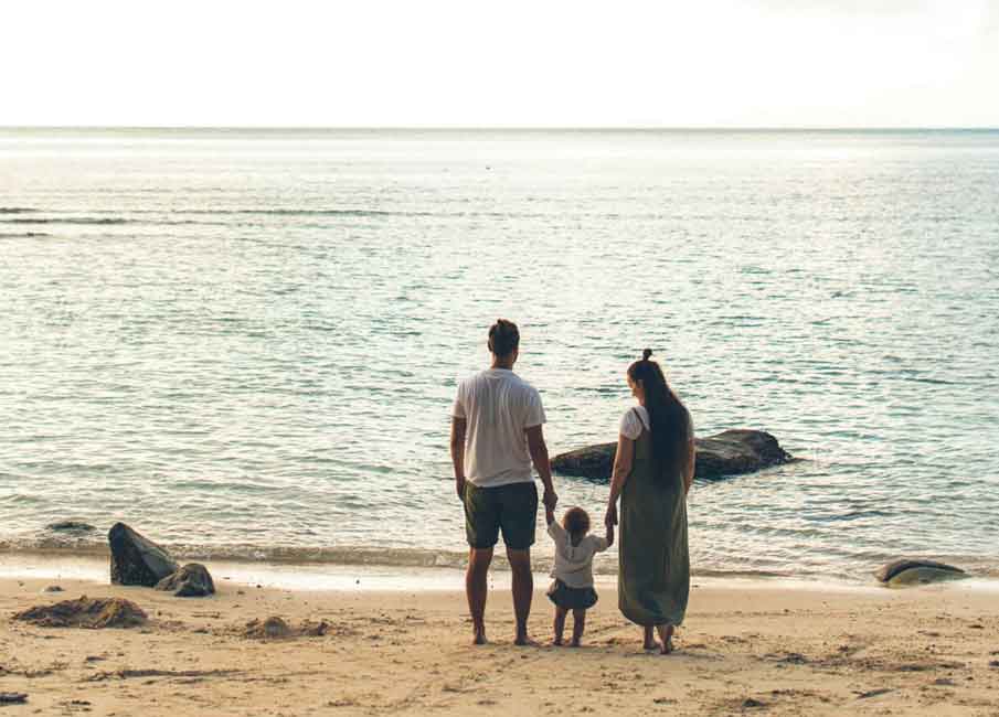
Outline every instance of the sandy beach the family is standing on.
{"label": "sandy beach the family is standing on", "polygon": [[[210,566],[211,567],[211,566]],[[502,576],[498,582],[502,581]],[[57,582],[63,592],[43,593]],[[460,590],[306,591],[219,580],[208,599],[81,579],[0,578],[4,714],[926,714],[999,715],[999,600],[966,581],[910,590],[694,579],[670,656],[642,653],[603,586],[582,649],[514,648],[509,592],[490,593],[491,643],[469,644]],[[131,629],[11,620],[86,595],[135,601]],[[321,636],[262,639],[280,617]]]}

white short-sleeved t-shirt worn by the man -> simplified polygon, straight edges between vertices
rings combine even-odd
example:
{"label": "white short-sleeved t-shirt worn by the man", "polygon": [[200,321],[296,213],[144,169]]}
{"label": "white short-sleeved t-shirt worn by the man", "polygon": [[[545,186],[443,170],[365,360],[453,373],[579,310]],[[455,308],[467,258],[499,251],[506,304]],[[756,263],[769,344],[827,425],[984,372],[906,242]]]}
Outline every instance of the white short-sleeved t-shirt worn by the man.
{"label": "white short-sleeved t-shirt worn by the man", "polygon": [[465,478],[479,488],[530,483],[524,430],[544,422],[541,394],[507,368],[490,368],[458,384],[451,415],[467,421]]}

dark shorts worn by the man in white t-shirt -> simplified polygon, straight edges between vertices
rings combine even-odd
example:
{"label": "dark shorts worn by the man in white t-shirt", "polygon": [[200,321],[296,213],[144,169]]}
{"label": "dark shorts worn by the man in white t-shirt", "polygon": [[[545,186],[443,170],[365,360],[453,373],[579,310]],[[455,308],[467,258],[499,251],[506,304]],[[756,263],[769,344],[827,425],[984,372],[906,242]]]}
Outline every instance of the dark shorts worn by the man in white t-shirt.
{"label": "dark shorts worn by the man in white t-shirt", "polygon": [[491,548],[503,532],[503,543],[512,550],[534,545],[538,524],[538,486],[510,483],[477,488],[465,483],[465,535],[474,548]]}

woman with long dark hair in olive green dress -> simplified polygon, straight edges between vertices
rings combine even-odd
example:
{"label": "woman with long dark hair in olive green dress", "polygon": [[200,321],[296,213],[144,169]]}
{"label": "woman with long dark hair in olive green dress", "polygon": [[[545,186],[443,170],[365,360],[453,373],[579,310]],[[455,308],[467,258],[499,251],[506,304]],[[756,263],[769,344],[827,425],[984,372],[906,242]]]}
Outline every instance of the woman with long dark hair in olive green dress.
{"label": "woman with long dark hair in olive green dress", "polygon": [[617,524],[620,496],[618,607],[645,630],[646,650],[669,654],[690,592],[687,492],[694,442],[690,414],[650,355],[646,349],[628,367],[638,406],[621,419],[606,523]]}

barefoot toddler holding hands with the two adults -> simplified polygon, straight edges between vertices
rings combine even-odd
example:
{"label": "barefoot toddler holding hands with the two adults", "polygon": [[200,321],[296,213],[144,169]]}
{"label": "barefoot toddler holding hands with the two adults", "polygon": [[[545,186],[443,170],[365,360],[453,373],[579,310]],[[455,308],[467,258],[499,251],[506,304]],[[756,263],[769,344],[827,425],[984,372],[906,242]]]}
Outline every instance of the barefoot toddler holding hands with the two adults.
{"label": "barefoot toddler holding hands with the two adults", "polygon": [[573,507],[562,516],[562,525],[555,522],[555,514],[545,512],[548,532],[555,541],[555,565],[548,597],[555,603],[555,645],[562,644],[565,616],[572,610],[573,648],[580,646],[586,627],[586,610],[596,604],[593,589],[593,556],[603,553],[614,544],[614,528],[607,526],[607,537],[586,535],[589,532],[589,515],[582,507]]}

